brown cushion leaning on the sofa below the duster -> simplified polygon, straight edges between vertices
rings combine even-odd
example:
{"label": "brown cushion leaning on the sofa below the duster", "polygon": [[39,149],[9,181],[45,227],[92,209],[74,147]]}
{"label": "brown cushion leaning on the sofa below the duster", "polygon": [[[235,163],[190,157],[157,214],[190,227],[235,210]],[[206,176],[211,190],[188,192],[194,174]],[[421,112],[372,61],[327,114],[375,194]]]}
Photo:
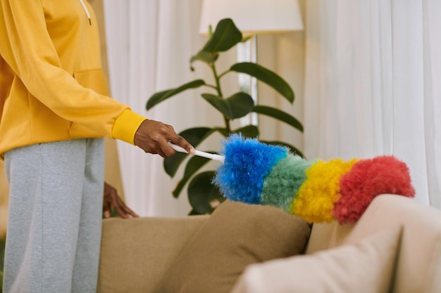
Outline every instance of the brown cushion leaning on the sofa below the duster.
{"label": "brown cushion leaning on the sofa below the duster", "polygon": [[303,252],[306,221],[275,207],[225,201],[170,266],[157,293],[227,293],[250,263]]}

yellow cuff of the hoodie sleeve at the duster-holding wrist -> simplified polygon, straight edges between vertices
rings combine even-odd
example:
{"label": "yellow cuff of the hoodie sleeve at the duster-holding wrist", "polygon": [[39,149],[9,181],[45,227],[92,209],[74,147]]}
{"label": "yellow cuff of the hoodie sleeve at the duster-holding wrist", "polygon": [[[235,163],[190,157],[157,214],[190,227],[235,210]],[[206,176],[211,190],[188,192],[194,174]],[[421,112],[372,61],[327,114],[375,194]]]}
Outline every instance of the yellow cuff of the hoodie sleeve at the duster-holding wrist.
{"label": "yellow cuff of the hoodie sleeve at the duster-holding wrist", "polygon": [[118,117],[116,117],[115,124],[113,124],[113,138],[135,145],[133,142],[135,139],[135,133],[144,120],[147,120],[147,118],[133,112],[132,110],[124,110]]}

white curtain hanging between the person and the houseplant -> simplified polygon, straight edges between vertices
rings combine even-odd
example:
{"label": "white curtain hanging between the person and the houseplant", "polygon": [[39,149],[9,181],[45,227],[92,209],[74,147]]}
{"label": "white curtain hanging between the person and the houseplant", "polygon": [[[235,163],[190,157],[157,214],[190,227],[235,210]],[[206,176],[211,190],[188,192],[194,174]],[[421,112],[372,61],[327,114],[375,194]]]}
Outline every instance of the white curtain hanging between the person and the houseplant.
{"label": "white curtain hanging between the person and the houseplant", "polygon": [[[149,119],[171,124],[179,132],[204,122],[188,115],[197,107],[194,93],[170,99],[147,112],[148,98],[192,80],[190,56],[204,39],[197,34],[199,1],[104,0],[106,39],[113,98]],[[204,113],[204,111],[201,111]],[[185,196],[175,200],[163,159],[118,143],[126,202],[142,216],[187,214]]]}

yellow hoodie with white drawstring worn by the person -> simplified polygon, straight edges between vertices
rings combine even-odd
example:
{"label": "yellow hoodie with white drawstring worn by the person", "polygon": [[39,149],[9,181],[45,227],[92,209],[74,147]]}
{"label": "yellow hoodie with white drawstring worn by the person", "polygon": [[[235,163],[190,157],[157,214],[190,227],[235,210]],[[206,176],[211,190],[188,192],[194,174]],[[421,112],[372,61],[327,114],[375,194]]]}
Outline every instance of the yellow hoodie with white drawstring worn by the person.
{"label": "yellow hoodie with white drawstring worn by the person", "polygon": [[83,0],[0,0],[0,155],[107,136],[132,143],[146,119],[108,97],[99,32]]}

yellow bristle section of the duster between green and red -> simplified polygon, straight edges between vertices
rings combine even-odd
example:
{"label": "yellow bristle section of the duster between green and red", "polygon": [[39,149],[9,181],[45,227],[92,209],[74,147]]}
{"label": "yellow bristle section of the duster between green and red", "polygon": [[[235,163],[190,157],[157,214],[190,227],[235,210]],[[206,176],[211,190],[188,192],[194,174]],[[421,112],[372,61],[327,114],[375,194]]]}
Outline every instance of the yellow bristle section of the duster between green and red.
{"label": "yellow bristle section of the duster between green and red", "polygon": [[291,204],[292,214],[314,223],[334,220],[331,211],[340,197],[340,178],[359,159],[318,159],[306,170],[306,181],[300,186]]}

